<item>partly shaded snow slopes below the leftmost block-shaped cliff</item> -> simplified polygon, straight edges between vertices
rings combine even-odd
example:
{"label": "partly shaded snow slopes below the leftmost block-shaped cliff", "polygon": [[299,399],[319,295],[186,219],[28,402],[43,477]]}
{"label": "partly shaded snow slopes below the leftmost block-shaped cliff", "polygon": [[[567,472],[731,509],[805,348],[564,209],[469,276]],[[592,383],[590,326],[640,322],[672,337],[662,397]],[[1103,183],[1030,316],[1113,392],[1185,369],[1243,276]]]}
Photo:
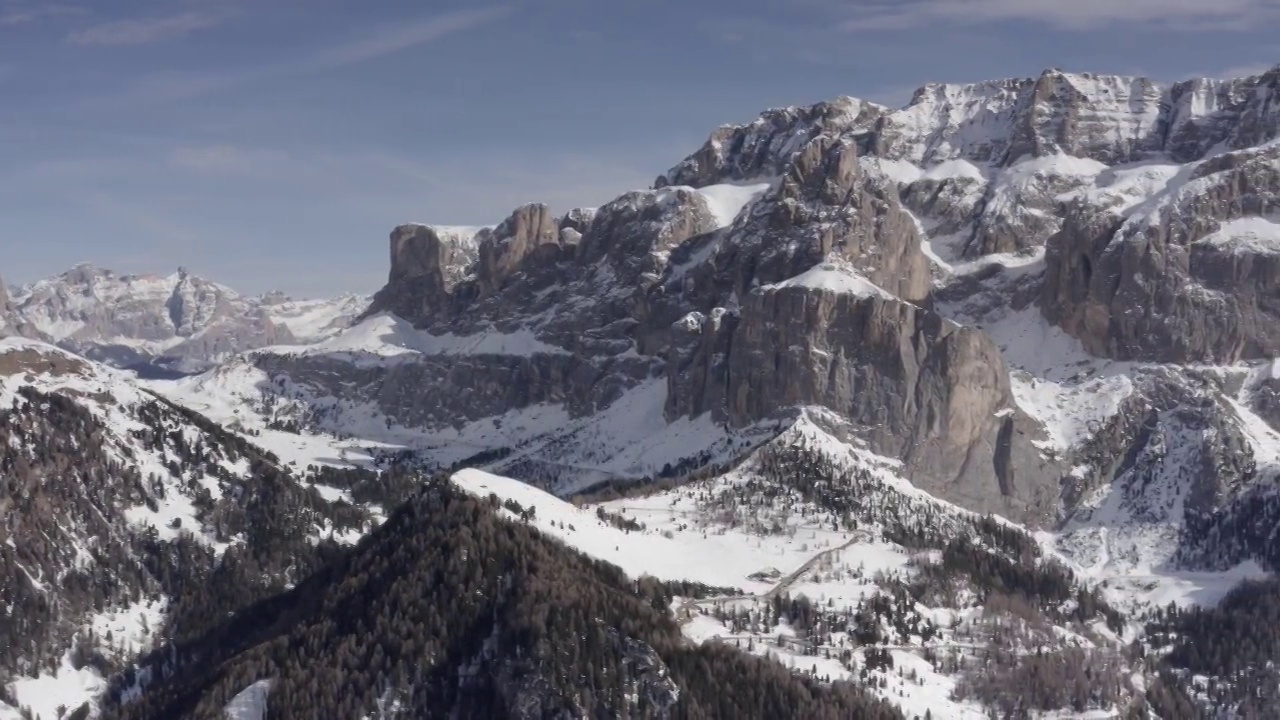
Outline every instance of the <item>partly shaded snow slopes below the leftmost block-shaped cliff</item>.
{"label": "partly shaded snow slopes below the leftmost block-shaped cliff", "polygon": [[[439,354],[442,363],[456,363],[484,343],[489,352],[524,355],[532,350],[527,338],[521,345],[521,338],[500,334],[435,337],[394,316],[379,315],[332,341],[283,352],[337,355],[364,372],[381,373],[422,355]],[[590,416],[575,418],[558,402],[543,402],[424,432],[384,414],[378,398],[365,395],[365,388],[352,387],[334,396],[326,387],[296,382],[270,370],[270,365],[264,368],[262,357],[275,361],[276,352],[282,351],[268,348],[260,356],[241,356],[200,375],[147,386],[228,427],[252,433],[253,442],[301,466],[403,451],[429,468],[488,456],[497,457],[494,468],[558,492],[723,462],[776,432],[772,424],[731,432],[710,418],[668,421],[663,413],[666,386],[659,379],[641,383]],[[279,429],[291,424],[305,432]]]}

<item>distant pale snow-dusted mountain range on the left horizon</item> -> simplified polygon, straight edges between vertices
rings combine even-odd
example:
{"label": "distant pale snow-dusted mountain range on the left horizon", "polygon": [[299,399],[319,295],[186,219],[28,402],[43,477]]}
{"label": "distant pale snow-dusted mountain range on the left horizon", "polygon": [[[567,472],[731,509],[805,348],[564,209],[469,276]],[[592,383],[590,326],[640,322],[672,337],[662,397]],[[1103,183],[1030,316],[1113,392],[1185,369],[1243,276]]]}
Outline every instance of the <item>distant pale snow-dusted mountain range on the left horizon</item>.
{"label": "distant pale snow-dusted mountain range on the left horizon", "polygon": [[179,269],[119,275],[78,265],[13,292],[12,313],[46,338],[122,368],[196,372],[234,352],[315,342],[364,311],[367,299],[242,296]]}

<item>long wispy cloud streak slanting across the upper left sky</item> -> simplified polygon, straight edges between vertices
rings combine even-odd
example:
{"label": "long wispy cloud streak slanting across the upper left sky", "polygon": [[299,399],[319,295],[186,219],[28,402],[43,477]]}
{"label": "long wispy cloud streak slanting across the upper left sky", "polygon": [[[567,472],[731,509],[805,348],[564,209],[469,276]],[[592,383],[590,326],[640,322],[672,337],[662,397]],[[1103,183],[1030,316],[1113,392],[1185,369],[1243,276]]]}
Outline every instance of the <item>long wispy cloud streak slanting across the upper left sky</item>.
{"label": "long wispy cloud streak slanting across the upper left sky", "polygon": [[138,82],[129,99],[182,100],[202,97],[244,85],[288,79],[355,65],[474,29],[499,20],[511,12],[512,6],[499,5],[399,23],[347,42],[329,45],[297,60],[285,60],[244,70],[155,74]]}

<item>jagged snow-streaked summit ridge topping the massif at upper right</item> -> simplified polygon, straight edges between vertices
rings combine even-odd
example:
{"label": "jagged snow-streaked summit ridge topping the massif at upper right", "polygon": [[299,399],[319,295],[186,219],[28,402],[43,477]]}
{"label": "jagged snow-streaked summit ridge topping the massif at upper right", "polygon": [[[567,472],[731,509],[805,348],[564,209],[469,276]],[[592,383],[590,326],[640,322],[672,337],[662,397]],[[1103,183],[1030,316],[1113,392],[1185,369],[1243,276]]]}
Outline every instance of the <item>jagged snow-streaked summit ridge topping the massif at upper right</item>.
{"label": "jagged snow-streaked summit ridge topping the massif at upper right", "polygon": [[1161,83],[1048,68],[1037,77],[928,83],[900,109],[847,96],[771,109],[717,128],[657,184],[774,176],[822,133],[856,136],[863,154],[920,168],[955,160],[1010,167],[1025,155],[1059,152],[1107,164],[1161,154],[1188,161],[1219,143],[1245,147],[1280,133],[1268,77]]}

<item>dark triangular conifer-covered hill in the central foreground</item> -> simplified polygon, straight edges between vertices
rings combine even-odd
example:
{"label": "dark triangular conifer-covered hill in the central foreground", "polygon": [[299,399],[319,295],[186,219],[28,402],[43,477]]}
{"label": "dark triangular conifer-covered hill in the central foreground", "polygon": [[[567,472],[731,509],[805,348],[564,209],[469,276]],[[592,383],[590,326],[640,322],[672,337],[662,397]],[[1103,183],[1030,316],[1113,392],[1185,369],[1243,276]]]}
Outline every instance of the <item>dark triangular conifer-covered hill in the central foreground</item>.
{"label": "dark triangular conifer-covered hill in the central foreground", "polygon": [[219,717],[262,679],[280,719],[900,716],[846,683],[687,646],[660,584],[499,507],[430,482],[297,588],[172,648],[200,661],[109,716]]}

